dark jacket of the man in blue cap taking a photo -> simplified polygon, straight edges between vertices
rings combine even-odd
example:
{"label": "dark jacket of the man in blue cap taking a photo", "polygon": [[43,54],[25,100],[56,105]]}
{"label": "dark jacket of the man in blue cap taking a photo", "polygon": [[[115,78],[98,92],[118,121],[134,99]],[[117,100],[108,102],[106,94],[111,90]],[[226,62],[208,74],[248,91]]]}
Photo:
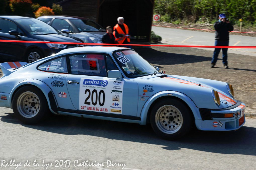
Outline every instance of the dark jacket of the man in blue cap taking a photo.
{"label": "dark jacket of the man in blue cap taking a photo", "polygon": [[229,31],[233,31],[234,27],[230,23],[224,22],[215,22],[214,23],[215,31],[215,40],[228,41],[229,40]]}

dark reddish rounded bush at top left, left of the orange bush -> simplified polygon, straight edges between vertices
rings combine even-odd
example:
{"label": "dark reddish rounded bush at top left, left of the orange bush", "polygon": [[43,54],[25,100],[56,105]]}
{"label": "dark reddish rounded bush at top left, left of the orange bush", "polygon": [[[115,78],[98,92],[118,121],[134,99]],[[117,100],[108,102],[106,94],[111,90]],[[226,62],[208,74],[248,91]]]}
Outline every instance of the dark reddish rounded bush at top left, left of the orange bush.
{"label": "dark reddish rounded bush at top left, left of the orange bush", "polygon": [[31,9],[30,0],[10,0],[10,8],[14,15],[24,16]]}

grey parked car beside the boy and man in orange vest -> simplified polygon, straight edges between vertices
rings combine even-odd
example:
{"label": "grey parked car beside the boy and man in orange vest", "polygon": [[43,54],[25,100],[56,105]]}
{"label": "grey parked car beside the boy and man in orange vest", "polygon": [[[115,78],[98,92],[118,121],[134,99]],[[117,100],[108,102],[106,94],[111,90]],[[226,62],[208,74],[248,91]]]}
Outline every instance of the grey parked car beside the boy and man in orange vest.
{"label": "grey parked car beside the boy and man in orange vest", "polygon": [[106,30],[96,22],[75,16],[42,16],[37,19],[51,25],[59,32],[80,38],[84,43],[102,43],[101,39]]}

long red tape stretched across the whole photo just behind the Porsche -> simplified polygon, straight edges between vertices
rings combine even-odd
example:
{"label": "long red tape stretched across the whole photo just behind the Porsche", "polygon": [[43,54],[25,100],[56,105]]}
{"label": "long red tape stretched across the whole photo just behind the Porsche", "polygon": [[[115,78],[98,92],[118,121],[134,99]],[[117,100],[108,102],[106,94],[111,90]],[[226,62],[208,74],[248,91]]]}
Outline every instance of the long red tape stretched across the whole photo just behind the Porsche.
{"label": "long red tape stretched across the whole photo just behind the Porsche", "polygon": [[195,48],[256,48],[256,46],[178,46],[178,45],[155,45],[155,44],[100,44],[100,43],[70,43],[50,41],[21,41],[21,40],[0,40],[0,42],[11,43],[39,43],[39,44],[82,44],[82,45],[110,45],[110,46],[155,46],[155,47],[195,47]]}

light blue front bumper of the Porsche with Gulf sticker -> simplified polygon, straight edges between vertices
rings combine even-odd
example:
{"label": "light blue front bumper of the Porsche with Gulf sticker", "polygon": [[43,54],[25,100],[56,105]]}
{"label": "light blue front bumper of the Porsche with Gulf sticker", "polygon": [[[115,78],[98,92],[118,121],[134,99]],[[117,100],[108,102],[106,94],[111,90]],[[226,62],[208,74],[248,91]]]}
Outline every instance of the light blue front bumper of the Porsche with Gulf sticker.
{"label": "light blue front bumper of the Porsche with Gulf sticker", "polygon": [[[245,123],[245,107],[244,103],[239,106],[227,110],[210,110],[212,115],[210,120],[196,120],[196,127],[204,131],[232,131],[237,130]],[[223,118],[224,114],[233,113],[232,118]],[[216,117],[214,117],[217,115]]]}

